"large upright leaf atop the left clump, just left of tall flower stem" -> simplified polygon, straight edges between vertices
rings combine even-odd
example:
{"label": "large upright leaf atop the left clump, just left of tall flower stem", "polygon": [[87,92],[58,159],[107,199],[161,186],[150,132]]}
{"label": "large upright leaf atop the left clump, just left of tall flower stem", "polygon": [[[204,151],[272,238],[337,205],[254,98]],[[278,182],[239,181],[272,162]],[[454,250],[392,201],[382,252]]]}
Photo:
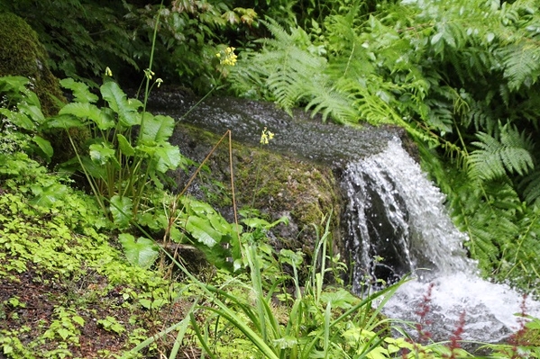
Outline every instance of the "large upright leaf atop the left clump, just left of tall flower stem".
{"label": "large upright leaf atop the left clump, just left of tall flower stem", "polygon": [[118,121],[123,126],[132,127],[141,124],[141,114],[138,112],[141,107],[139,100],[128,100],[124,91],[113,81],[101,85],[100,89],[104,100],[118,114]]}

